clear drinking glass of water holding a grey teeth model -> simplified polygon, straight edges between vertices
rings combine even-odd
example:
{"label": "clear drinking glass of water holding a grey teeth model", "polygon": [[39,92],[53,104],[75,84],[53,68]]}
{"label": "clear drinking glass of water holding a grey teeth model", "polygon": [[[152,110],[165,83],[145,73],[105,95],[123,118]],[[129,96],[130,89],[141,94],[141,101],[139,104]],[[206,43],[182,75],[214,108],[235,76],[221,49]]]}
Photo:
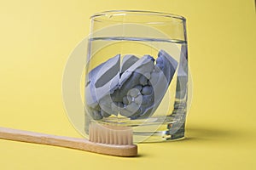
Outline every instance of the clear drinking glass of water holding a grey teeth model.
{"label": "clear drinking glass of water holding a grey teeth model", "polygon": [[133,128],[134,142],[183,139],[188,101],[186,20],[148,11],[91,16],[84,84],[90,122]]}

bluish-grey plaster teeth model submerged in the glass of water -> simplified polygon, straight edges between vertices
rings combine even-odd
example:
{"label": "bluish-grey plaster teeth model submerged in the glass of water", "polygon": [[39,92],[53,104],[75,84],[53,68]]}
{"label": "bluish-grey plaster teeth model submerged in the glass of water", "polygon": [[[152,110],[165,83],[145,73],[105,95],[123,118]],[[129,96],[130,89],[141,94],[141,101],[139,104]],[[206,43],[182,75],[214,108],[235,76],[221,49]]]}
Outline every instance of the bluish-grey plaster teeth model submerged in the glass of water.
{"label": "bluish-grey plaster teeth model submerged in the glass of water", "polygon": [[177,61],[160,50],[156,64],[150,55],[138,59],[120,55],[96,66],[88,75],[86,108],[93,119],[111,115],[131,119],[151,116],[166,94],[177,69]]}

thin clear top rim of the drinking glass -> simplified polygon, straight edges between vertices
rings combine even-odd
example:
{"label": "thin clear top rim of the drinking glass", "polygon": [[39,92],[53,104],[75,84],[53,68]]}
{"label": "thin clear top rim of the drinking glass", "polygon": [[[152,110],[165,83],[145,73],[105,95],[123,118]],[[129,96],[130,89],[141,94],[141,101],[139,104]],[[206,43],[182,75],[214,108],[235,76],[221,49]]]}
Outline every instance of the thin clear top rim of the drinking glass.
{"label": "thin clear top rim of the drinking glass", "polygon": [[169,13],[163,13],[163,12],[156,12],[156,11],[147,11],[147,10],[108,10],[108,11],[103,11],[100,13],[96,13],[90,16],[91,19],[96,19],[97,17],[102,17],[102,16],[107,16],[111,14],[111,16],[114,15],[126,15],[126,14],[143,14],[143,15],[154,15],[154,16],[162,16],[162,17],[167,17],[167,18],[174,18],[182,21],[186,21],[186,18],[183,17],[182,15],[178,14],[169,14]]}

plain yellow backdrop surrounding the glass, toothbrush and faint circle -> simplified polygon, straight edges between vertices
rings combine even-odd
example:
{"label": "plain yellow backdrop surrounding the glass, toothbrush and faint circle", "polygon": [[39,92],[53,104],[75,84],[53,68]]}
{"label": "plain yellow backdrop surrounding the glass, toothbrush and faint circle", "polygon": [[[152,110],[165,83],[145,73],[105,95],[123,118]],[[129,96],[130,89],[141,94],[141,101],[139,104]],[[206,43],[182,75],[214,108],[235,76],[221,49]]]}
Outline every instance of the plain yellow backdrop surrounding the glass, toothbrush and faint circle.
{"label": "plain yellow backdrop surrounding the glass, toothbrush and faint circle", "polygon": [[0,1],[0,126],[80,137],[68,122],[61,77],[89,34],[91,14],[143,9],[187,18],[193,102],[187,139],[139,144],[139,157],[0,140],[0,169],[255,169],[253,0]]}

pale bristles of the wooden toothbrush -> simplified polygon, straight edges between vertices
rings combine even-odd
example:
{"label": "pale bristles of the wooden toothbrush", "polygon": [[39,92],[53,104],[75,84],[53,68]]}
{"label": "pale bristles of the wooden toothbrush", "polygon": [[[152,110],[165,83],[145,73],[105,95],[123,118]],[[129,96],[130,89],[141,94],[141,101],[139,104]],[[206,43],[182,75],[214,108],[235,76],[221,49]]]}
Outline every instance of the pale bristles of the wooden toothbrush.
{"label": "pale bristles of the wooden toothbrush", "polygon": [[132,144],[132,128],[90,123],[90,141],[102,144]]}

